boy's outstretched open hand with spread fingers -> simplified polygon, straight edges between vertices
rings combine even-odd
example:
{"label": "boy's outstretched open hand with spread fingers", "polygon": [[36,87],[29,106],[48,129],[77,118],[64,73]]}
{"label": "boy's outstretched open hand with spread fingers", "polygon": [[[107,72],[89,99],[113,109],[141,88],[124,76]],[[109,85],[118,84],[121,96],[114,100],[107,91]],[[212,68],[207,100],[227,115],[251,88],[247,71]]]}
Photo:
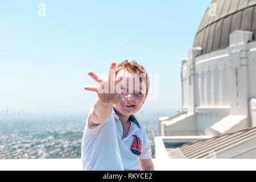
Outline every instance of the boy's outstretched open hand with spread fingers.
{"label": "boy's outstretched open hand with spread fingers", "polygon": [[[126,101],[121,96],[121,82],[122,77],[115,79],[116,63],[112,62],[109,69],[109,77],[107,80],[102,80],[98,75],[92,71],[88,75],[98,82],[98,86],[85,86],[85,90],[97,92],[99,100],[102,104],[119,104],[122,107],[126,106]],[[119,84],[118,84],[119,83]],[[120,85],[120,87],[118,86]]]}

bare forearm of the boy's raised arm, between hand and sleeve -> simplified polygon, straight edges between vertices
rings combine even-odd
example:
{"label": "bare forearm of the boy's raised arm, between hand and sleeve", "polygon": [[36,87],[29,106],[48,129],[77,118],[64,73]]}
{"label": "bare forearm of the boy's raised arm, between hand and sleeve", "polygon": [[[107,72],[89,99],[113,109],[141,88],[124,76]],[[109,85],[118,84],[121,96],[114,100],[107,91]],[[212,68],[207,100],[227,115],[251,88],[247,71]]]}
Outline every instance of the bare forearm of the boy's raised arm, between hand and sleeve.
{"label": "bare forearm of the boy's raised arm, between hand and sleeve", "polygon": [[108,119],[112,113],[112,104],[104,104],[97,97],[93,105],[94,114],[91,115],[94,124],[100,124]]}

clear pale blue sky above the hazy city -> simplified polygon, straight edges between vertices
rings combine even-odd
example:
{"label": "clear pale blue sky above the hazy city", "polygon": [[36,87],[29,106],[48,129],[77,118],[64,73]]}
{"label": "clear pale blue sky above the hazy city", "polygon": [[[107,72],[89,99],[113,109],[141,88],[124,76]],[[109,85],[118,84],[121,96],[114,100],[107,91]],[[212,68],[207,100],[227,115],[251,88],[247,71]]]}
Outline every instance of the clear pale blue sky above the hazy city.
{"label": "clear pale blue sky above the hazy city", "polygon": [[0,110],[87,112],[88,71],[126,59],[159,74],[159,97],[142,110],[181,110],[181,57],[210,2],[1,1]]}

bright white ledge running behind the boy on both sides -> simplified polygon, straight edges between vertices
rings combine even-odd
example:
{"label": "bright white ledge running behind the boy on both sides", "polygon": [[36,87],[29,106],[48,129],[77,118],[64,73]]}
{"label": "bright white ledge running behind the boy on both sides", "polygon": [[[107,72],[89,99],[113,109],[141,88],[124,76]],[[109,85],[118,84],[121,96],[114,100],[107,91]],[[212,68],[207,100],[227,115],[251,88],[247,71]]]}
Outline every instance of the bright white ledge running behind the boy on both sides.
{"label": "bright white ledge running behind the boy on both sides", "polygon": [[[177,170],[256,170],[256,160],[250,159],[152,159],[159,171]],[[81,159],[1,159],[0,170],[14,171],[81,171]]]}

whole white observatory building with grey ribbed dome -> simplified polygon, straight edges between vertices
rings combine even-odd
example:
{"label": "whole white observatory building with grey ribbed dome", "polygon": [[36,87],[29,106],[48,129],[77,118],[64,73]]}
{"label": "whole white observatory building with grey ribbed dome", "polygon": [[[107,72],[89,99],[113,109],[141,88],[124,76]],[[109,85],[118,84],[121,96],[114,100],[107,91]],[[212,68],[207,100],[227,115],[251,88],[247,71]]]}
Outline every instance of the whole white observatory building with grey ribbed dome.
{"label": "whole white observatory building with grey ribbed dome", "polygon": [[213,0],[182,60],[182,112],[159,118],[156,158],[256,158],[255,38],[256,0]]}

